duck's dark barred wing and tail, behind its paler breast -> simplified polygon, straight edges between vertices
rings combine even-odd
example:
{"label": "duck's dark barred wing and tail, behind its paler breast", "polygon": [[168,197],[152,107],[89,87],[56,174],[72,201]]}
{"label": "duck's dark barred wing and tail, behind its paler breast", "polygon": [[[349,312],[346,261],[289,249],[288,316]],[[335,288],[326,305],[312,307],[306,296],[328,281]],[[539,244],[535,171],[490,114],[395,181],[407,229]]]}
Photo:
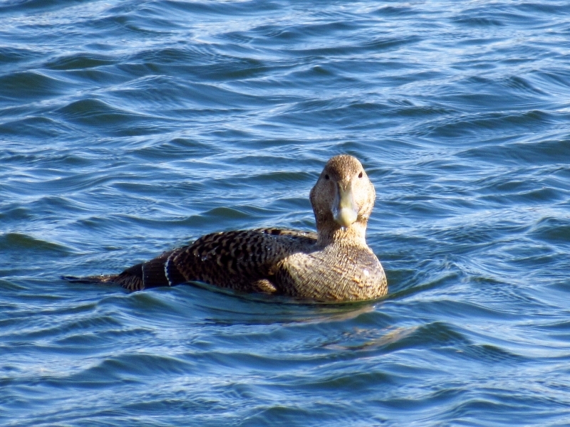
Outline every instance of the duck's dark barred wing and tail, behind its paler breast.
{"label": "duck's dark barred wing and tail, behind its paler breast", "polygon": [[316,233],[279,228],[212,233],[119,275],[93,279],[128,290],[200,281],[245,292],[278,292],[272,280],[276,264],[292,253],[313,251],[316,240]]}

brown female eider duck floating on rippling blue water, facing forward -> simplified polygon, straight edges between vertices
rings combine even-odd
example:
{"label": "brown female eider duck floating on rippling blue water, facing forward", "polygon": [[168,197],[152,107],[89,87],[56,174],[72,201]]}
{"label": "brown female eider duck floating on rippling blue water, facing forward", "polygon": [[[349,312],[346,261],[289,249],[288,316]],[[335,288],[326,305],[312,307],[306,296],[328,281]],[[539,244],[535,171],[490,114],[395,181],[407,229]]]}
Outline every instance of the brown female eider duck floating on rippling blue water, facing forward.
{"label": "brown female eider duck floating on rippling blue water, facing forward", "polygon": [[208,234],[118,275],[88,279],[128,290],[199,281],[318,301],[386,295],[386,275],[366,245],[375,191],[361,162],[345,154],[328,160],[310,199],[316,233],[259,228]]}

